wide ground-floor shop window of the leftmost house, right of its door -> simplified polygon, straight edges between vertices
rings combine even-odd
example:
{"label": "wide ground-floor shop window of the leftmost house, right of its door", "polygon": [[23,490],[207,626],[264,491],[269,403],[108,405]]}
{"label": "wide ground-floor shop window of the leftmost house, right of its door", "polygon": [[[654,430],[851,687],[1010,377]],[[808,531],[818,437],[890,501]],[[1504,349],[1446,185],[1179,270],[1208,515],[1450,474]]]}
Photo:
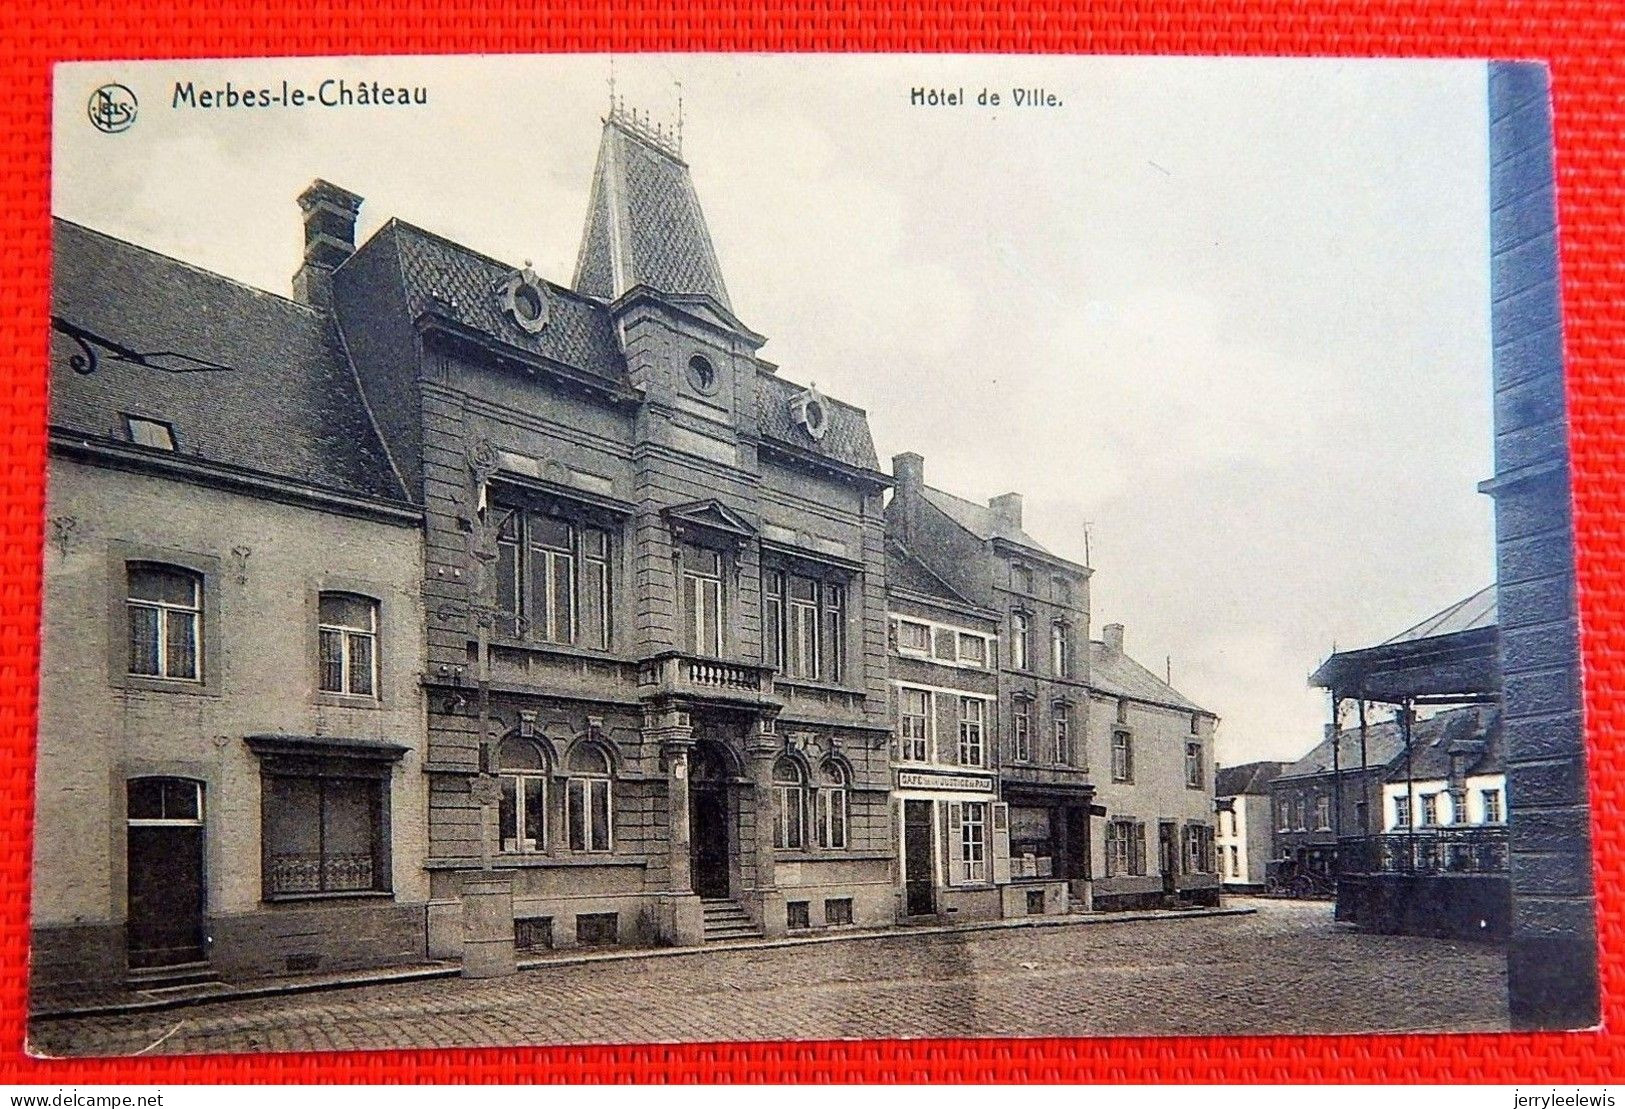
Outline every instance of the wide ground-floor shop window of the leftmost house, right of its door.
{"label": "wide ground-floor shop window of the leftmost house, right of its door", "polygon": [[265,781],[266,893],[388,889],[375,777]]}

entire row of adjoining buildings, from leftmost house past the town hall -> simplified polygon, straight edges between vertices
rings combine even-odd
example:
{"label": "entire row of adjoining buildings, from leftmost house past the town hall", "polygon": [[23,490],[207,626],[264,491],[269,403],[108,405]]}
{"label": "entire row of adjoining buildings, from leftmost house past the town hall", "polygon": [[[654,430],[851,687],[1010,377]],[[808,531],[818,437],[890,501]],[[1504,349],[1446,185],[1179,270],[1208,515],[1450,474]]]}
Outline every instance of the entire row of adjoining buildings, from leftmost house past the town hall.
{"label": "entire row of adjoining buildings, from leftmost house past the town hall", "polygon": [[291,298],[58,221],[36,987],[1216,888],[1214,717],[760,358],[671,135],[569,286],[362,203]]}

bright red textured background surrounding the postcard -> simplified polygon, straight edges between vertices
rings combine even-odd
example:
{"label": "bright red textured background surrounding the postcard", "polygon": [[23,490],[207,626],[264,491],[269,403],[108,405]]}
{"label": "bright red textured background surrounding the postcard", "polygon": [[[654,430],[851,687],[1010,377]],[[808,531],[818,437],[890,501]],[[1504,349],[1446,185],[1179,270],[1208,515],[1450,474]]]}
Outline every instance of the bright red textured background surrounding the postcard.
{"label": "bright red textured background surrounding the postcard", "polygon": [[[0,1081],[1609,1081],[1625,1075],[1625,7],[0,0]],[[717,1044],[42,1062],[23,1054],[49,298],[50,65],[551,50],[1346,54],[1552,67],[1602,1011],[1615,1031]],[[1610,311],[1612,309],[1612,311]],[[1488,387],[1488,382],[1485,382]],[[1261,974],[1268,968],[1259,968]]]}

